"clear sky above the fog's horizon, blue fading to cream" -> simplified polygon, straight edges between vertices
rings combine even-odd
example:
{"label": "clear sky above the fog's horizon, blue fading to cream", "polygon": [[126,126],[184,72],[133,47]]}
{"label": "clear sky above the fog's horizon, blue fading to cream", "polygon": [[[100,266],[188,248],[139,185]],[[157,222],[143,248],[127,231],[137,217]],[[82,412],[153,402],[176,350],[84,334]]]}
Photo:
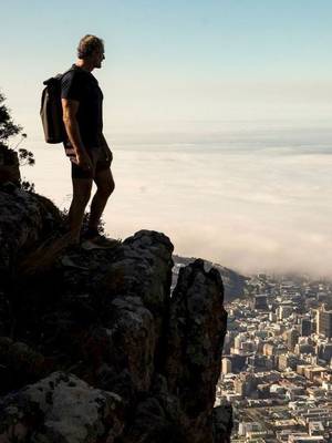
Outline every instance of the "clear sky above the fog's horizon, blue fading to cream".
{"label": "clear sky above the fog's horizon, blue fading to cream", "polygon": [[330,1],[11,1],[1,16],[0,87],[31,134],[41,82],[85,33],[105,40],[108,131],[331,112]]}

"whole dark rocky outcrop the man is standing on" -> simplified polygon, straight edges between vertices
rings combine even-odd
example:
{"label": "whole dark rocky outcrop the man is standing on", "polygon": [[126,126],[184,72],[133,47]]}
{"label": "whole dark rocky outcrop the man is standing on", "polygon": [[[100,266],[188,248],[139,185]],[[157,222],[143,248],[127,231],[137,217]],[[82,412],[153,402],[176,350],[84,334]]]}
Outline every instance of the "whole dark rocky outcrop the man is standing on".
{"label": "whole dark rocky outcrop the man is standing on", "polygon": [[0,189],[0,442],[226,442],[219,272],[197,260],[170,295],[165,235],[87,251],[63,229],[45,198]]}

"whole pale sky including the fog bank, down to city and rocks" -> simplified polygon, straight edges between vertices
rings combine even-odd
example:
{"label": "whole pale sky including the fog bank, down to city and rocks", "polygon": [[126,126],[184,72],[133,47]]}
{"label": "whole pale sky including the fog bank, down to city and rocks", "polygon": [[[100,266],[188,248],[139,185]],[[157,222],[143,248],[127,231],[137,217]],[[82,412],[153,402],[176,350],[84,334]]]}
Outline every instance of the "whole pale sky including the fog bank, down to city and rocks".
{"label": "whole pale sky including the fog bank, down to city and rocks", "polygon": [[38,192],[70,203],[40,95],[93,33],[105,41],[94,75],[114,151],[110,234],[160,229],[177,253],[243,272],[332,275],[330,1],[11,1],[1,18],[0,89]]}

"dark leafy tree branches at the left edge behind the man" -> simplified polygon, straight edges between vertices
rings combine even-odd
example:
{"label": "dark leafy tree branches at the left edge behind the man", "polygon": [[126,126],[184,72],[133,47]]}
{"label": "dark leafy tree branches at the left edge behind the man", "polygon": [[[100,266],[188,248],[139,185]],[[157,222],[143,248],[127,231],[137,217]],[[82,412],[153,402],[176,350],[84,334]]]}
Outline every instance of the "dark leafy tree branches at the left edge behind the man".
{"label": "dark leafy tree branches at the left edge behind the man", "polygon": [[[19,162],[20,166],[30,165],[33,166],[34,155],[31,151],[19,147],[27,134],[23,133],[23,128],[17,125],[11,115],[10,110],[4,104],[6,96],[0,92],[0,156],[6,165],[14,165]],[[20,135],[19,141],[14,146],[9,144],[10,138]],[[29,182],[20,182],[24,189],[33,190],[33,184]]]}

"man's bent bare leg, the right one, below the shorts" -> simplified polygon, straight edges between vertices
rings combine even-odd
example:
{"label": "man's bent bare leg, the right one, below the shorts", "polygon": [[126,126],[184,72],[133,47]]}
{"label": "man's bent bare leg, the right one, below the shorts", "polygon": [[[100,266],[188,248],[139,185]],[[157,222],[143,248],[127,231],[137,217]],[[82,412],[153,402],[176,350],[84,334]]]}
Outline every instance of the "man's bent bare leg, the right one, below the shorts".
{"label": "man's bent bare leg, the right one, below the shorts", "polygon": [[107,199],[115,187],[111,169],[96,171],[94,183],[96,184],[97,190],[91,203],[89,229],[96,231]]}

